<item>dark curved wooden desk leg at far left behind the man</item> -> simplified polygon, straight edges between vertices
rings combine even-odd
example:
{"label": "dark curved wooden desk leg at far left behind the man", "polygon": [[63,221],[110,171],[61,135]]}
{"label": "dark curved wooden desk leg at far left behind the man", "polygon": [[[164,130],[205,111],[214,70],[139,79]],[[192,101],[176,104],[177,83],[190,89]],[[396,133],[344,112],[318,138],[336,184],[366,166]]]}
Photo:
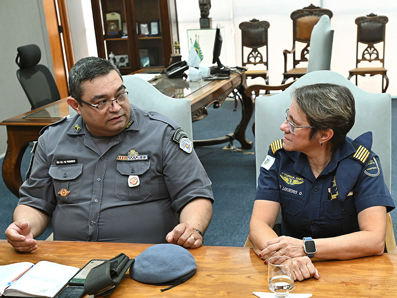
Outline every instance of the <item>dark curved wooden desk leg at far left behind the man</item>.
{"label": "dark curved wooden desk leg at far left behind the man", "polygon": [[7,151],[1,167],[3,180],[8,189],[19,198],[19,187],[22,185],[21,161],[29,142],[39,138],[41,128],[7,126]]}

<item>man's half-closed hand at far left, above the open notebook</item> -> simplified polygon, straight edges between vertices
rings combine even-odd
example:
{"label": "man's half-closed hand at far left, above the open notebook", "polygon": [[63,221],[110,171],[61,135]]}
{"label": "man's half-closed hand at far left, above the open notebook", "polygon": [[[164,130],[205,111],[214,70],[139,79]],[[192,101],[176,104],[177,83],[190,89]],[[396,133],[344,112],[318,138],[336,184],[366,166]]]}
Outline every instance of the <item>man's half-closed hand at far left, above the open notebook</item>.
{"label": "man's half-closed hand at far left, above the open notebook", "polygon": [[16,221],[10,224],[4,234],[7,241],[16,250],[21,252],[32,252],[37,249],[37,240],[33,239],[31,226],[26,221]]}

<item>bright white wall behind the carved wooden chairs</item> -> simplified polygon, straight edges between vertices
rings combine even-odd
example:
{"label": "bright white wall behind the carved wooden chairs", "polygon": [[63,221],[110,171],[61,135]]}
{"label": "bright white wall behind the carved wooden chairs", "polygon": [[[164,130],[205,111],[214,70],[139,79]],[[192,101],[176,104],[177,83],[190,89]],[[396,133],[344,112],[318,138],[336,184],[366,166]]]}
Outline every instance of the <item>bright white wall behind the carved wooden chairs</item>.
{"label": "bright white wall behind the carved wooden chairs", "polygon": [[[397,4],[389,0],[212,0],[209,17],[212,18],[212,26],[220,23],[226,28],[226,44],[228,47],[227,63],[230,67],[241,65],[241,31],[239,24],[253,18],[267,20],[270,23],[268,29],[269,45],[269,82],[279,84],[284,70],[283,50],[292,48],[292,20],[290,14],[296,9],[303,8],[313,3],[316,6],[328,8],[332,11],[331,27],[335,30],[333,37],[331,70],[347,77],[348,71],[355,67],[356,34],[357,25],[354,20],[358,16],[371,12],[378,15],[386,15],[389,22],[386,24],[386,55],[385,67],[388,69],[390,80],[387,92],[397,95]],[[199,28],[199,1],[177,0],[179,35],[181,54],[183,59],[188,57],[187,29]],[[223,45],[225,46],[225,45]],[[234,55],[235,54],[235,55]],[[205,55],[205,53],[204,53]],[[212,55],[209,53],[209,55]],[[291,65],[289,65],[291,68]],[[354,81],[354,78],[352,78]],[[262,83],[257,78],[255,83]],[[248,81],[248,83],[253,83]],[[381,92],[381,76],[359,77],[358,85],[362,89],[379,93]]]}

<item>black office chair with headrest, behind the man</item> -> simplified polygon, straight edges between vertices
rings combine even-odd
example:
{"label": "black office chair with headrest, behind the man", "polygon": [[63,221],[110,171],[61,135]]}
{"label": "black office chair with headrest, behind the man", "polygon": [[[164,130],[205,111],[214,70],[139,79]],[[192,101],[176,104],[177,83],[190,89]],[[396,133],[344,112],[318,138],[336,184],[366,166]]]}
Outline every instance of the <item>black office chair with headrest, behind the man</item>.
{"label": "black office chair with headrest, behind the man", "polygon": [[[19,66],[16,76],[29,99],[32,110],[61,99],[57,84],[50,70],[41,64],[41,51],[31,44],[17,48],[15,63]],[[18,61],[19,59],[19,61]]]}

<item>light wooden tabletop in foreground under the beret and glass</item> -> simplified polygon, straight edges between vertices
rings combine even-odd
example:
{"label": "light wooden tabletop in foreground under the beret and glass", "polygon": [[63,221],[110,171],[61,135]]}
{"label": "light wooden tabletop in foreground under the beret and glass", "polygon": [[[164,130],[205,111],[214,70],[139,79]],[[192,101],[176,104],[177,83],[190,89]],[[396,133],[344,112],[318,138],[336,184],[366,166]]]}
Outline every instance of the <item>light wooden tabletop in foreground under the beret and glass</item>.
{"label": "light wooden tabletop in foreground under the beret and glass", "polygon": [[[42,260],[82,267],[90,259],[110,259],[121,252],[134,258],[148,244],[39,241],[33,253],[18,253],[0,240],[0,265]],[[138,283],[128,272],[112,298],[128,297],[251,297],[269,292],[267,266],[251,248],[202,246],[190,250],[198,270],[182,285],[160,292],[162,287]],[[315,261],[321,278],[295,282],[292,293],[314,298],[386,298],[397,294],[397,254],[383,254],[348,261]]]}

